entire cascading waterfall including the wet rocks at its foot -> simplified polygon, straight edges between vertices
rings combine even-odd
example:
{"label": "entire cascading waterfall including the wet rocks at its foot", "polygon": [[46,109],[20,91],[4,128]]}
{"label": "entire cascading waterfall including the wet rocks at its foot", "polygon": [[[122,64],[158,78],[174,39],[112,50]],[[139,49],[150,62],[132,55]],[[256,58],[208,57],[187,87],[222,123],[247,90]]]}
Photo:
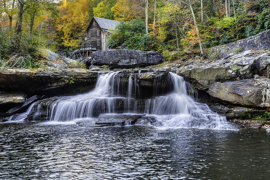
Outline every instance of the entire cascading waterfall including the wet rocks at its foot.
{"label": "entire cascading waterfall including the wet rocks at its foot", "polygon": [[38,101],[31,105],[32,109],[27,113],[9,120],[17,120],[21,116],[28,120],[41,120],[44,117],[52,122],[70,122],[99,117],[98,125],[151,124],[157,127],[233,129],[225,117],[211,111],[206,104],[194,101],[190,96],[192,93],[188,95],[189,86],[183,77],[171,72],[168,75],[170,92],[140,99],[137,97],[140,85],[136,78],[143,77],[141,72],[131,73],[127,86],[122,71],[100,74],[92,91],[50,98],[46,100],[47,104]]}

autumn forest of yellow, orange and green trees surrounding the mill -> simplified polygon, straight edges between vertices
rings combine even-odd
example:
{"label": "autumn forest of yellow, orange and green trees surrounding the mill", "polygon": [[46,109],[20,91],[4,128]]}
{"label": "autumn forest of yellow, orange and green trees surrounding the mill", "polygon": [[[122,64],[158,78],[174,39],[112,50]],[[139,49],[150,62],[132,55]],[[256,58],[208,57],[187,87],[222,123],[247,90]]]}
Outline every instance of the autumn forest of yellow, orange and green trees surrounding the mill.
{"label": "autumn forest of yellow, orange and green trees surrounding the mill", "polygon": [[41,48],[85,47],[93,16],[120,21],[111,48],[158,51],[166,61],[270,29],[269,0],[0,0],[0,66],[24,57],[42,63]]}

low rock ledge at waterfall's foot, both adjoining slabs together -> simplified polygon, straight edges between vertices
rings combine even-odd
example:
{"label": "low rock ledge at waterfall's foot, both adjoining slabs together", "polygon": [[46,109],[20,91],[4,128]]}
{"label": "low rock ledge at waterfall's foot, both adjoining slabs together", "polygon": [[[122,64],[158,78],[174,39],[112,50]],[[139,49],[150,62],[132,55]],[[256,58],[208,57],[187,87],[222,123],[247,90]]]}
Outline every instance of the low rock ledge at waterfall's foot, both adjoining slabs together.
{"label": "low rock ledge at waterfall's foot, both adjoining slabs together", "polygon": [[133,115],[133,114],[102,114],[99,116],[96,125],[149,125],[156,122],[154,116]]}

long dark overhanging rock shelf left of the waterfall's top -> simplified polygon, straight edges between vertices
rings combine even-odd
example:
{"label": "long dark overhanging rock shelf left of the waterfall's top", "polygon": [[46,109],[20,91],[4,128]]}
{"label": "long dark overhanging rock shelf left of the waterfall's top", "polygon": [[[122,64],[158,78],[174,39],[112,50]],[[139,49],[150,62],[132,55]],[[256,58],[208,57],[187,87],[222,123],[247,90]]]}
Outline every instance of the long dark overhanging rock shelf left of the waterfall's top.
{"label": "long dark overhanging rock shelf left of the waterfall's top", "polygon": [[7,69],[0,67],[0,89],[11,91],[16,89],[24,93],[32,93],[46,88],[95,83],[98,73],[109,72],[85,69],[39,68]]}

